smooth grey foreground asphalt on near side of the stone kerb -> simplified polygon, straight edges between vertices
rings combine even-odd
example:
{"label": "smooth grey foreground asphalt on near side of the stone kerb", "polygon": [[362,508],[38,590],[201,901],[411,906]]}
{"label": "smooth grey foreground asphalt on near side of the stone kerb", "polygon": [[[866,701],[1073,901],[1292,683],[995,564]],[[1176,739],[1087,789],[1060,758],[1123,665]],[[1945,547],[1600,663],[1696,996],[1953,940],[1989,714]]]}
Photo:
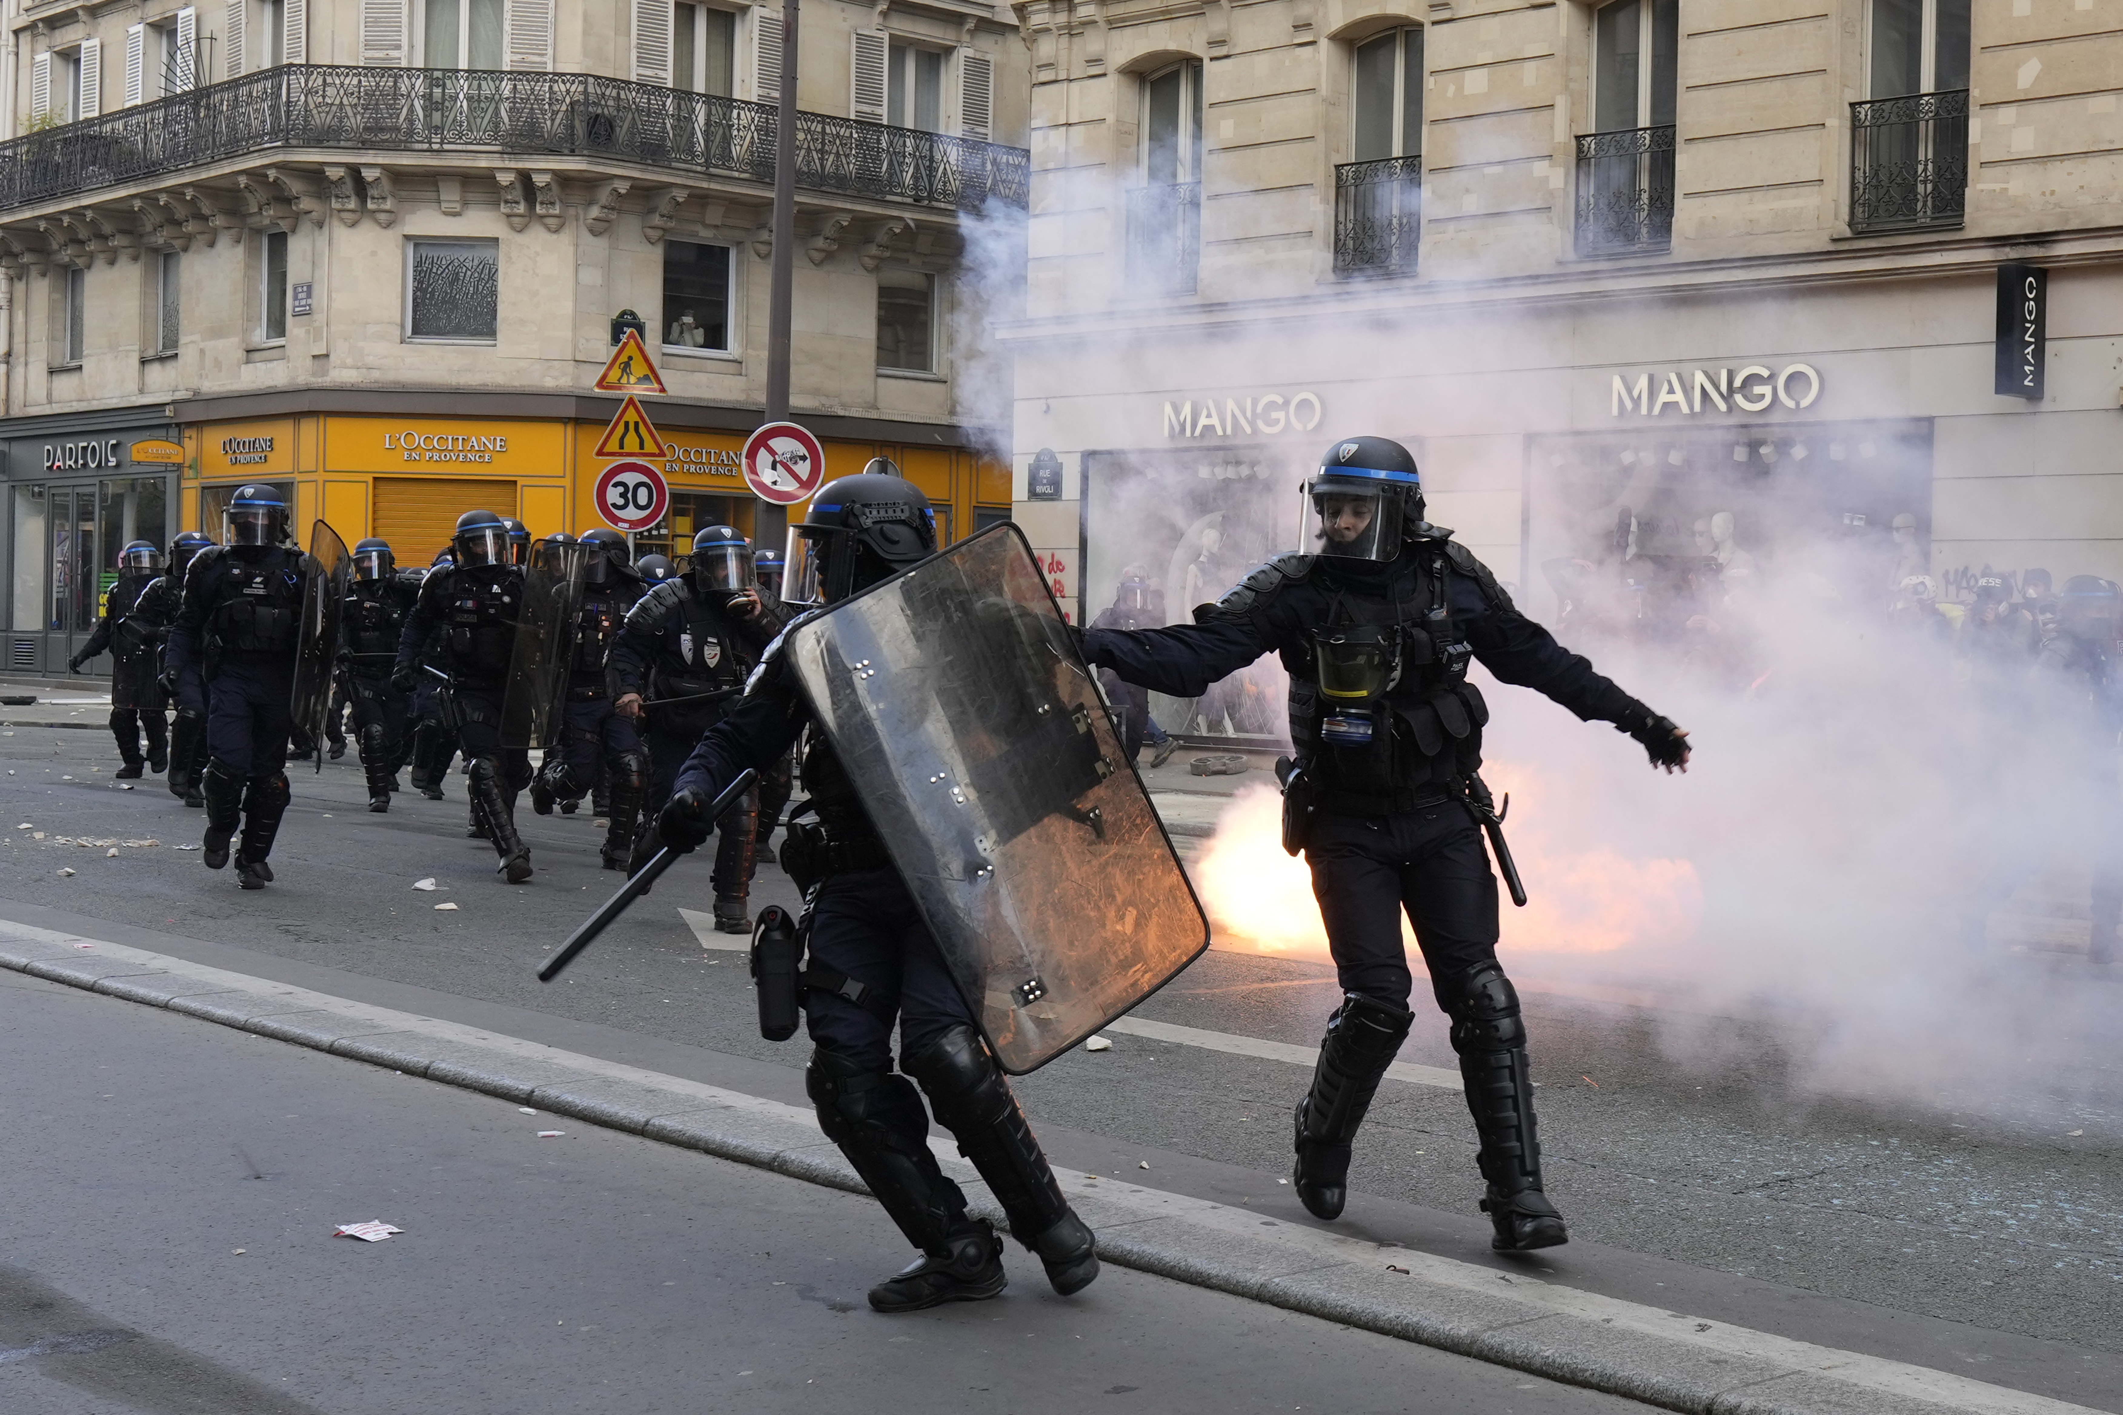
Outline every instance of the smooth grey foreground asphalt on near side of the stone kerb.
{"label": "smooth grey foreground asphalt on near side of the stone kerb", "polygon": [[1645,1409],[1015,1247],[879,1317],[866,1199],[17,974],[0,1018],[11,1415]]}

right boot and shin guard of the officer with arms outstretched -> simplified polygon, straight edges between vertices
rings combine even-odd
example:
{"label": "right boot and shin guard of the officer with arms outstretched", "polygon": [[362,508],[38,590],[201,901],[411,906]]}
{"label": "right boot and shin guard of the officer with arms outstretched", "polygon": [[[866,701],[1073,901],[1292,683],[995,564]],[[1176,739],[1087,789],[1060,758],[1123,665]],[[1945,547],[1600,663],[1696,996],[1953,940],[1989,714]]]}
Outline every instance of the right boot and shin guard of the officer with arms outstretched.
{"label": "right boot and shin guard of the officer with arms outstretched", "polygon": [[1541,1192],[1541,1146],[1533,1129],[1526,1025],[1518,993],[1497,963],[1480,963],[1439,986],[1452,1014],[1452,1050],[1467,1084],[1467,1110],[1482,1141],[1475,1165],[1488,1180],[1482,1211],[1497,1226],[1490,1247],[1514,1254],[1569,1243],[1563,1216]]}

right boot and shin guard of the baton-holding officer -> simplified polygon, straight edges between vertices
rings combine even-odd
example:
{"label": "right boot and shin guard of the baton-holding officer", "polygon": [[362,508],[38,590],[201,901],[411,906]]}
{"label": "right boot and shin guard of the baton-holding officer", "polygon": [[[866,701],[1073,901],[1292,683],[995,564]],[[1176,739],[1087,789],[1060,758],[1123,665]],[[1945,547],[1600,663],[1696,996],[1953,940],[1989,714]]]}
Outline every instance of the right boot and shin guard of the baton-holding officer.
{"label": "right boot and shin guard of the baton-holding officer", "polygon": [[921,1082],[936,1120],[987,1180],[1011,1220],[1011,1237],[1038,1254],[1053,1290],[1070,1296],[1089,1288],[1098,1277],[1098,1243],[1062,1196],[1055,1171],[981,1033],[966,1025],[951,1027],[919,1052],[902,1056],[900,1065]]}

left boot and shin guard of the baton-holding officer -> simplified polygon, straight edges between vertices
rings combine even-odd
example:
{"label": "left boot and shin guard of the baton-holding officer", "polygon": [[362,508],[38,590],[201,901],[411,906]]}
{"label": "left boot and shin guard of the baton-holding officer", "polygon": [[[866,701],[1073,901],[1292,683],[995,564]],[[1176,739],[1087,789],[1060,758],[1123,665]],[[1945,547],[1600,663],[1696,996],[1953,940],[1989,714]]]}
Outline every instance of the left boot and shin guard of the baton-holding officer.
{"label": "left boot and shin guard of the baton-holding officer", "polygon": [[870,1307],[883,1313],[921,1311],[1002,1292],[1008,1281],[1002,1243],[994,1228],[966,1218],[966,1194],[936,1165],[921,1097],[907,1078],[864,1071],[847,1056],[817,1048],[805,1067],[805,1090],[826,1139],[841,1146],[877,1203],[921,1250],[915,1262],[870,1288]]}

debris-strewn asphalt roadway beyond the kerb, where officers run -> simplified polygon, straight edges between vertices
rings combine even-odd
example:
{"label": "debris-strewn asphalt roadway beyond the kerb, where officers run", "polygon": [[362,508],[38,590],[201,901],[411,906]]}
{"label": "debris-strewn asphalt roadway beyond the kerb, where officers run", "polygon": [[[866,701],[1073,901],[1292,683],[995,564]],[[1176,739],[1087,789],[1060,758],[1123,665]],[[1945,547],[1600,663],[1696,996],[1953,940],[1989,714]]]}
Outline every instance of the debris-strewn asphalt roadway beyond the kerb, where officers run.
{"label": "debris-strewn asphalt roadway beyond the kerb, where officers run", "polygon": [[[323,776],[295,774],[274,855],[280,883],[242,893],[172,849],[197,840],[200,813],[153,779],[115,789],[106,736],[15,728],[0,736],[0,762],[15,772],[0,776],[4,899],[773,1063],[777,1076],[802,1063],[800,1044],[756,1035],[741,955],[703,950],[677,914],[709,908],[705,868],[667,876],[563,982],[533,980],[541,953],[618,883],[597,870],[586,817],[524,808],[539,872],[510,889],[490,849],[463,838],[461,779],[448,802],[401,798],[374,817],[352,759],[327,762]],[[4,829],[23,821],[47,838]],[[59,836],[161,844],[83,849]],[[442,889],[414,893],[420,876]],[[437,902],[459,910],[437,912]],[[794,902],[773,868],[754,891],[754,906],[766,902]],[[2076,1016],[2102,1016],[2106,995],[2123,1008],[2110,982],[2072,986]],[[1333,1001],[1321,967],[1212,950],[1138,1016],[1310,1046]],[[1713,1044],[1681,1065],[1641,1008],[1533,993],[1529,1016],[1550,1192],[1577,1239],[1543,1260],[1567,1279],[1622,1281],[1628,1269],[1650,1292],[1669,1262],[1705,1290],[1724,1281],[1732,1320],[1771,1328],[1773,1313],[1819,1294],[1847,1303],[1836,1311],[1858,1328],[1870,1313],[1881,1330],[1945,1332],[1953,1349],[2004,1349],[1991,1341],[2002,1334],[2070,1360],[2123,1351],[2123,1029],[2051,1040],[2083,1052],[2072,1086],[2032,1084],[2013,1105],[1960,1110],[1953,1095],[1824,1101],[1785,1084],[1775,1037],[1720,1018],[1701,1018]],[[1418,1018],[1403,1061],[1452,1065],[1442,1018]],[[1287,1116],[1304,1082],[1280,1061],[1117,1037],[1110,1052],[1066,1056],[1019,1090],[1057,1148],[1053,1135],[1066,1133],[1163,1169],[1199,1163],[1246,1190],[1236,1196],[1295,1213],[1274,1177],[1287,1173]],[[1359,1146],[1350,1222],[1429,1224],[1456,1245],[1444,1252],[1482,1260],[1471,1156],[1456,1093],[1388,1082]],[[1794,1334],[1832,1341],[1832,1330]]]}

